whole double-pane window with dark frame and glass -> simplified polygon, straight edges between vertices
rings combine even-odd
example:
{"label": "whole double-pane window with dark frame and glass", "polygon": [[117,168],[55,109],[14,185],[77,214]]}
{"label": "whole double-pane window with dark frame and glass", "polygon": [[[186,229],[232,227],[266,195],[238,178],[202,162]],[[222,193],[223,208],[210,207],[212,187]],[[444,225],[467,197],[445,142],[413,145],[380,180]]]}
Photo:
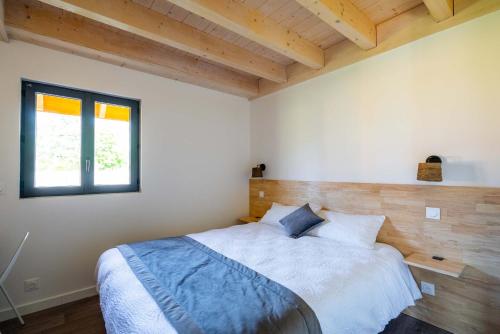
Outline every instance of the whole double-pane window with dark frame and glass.
{"label": "whole double-pane window with dark frame and glass", "polygon": [[139,191],[139,101],[22,82],[24,197]]}

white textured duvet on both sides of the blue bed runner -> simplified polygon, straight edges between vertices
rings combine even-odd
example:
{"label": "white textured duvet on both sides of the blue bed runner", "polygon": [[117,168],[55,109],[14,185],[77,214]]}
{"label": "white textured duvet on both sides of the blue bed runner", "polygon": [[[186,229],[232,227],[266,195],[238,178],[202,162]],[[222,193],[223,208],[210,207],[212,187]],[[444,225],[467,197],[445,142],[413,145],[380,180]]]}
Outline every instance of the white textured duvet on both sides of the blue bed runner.
{"label": "white textured duvet on both sides of the blue bed runner", "polygon": [[[291,239],[281,227],[259,223],[189,236],[302,297],[325,334],[379,333],[421,298],[402,255],[389,245],[368,250]],[[175,333],[116,248],[100,257],[97,282],[108,333]]]}

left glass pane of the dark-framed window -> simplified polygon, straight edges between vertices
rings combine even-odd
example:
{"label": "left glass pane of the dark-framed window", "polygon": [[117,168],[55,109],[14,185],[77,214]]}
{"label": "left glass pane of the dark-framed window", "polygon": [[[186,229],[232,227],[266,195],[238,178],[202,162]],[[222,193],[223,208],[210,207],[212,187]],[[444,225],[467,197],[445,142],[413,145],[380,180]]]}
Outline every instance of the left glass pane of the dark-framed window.
{"label": "left glass pane of the dark-framed window", "polygon": [[80,186],[82,101],[36,93],[35,187]]}

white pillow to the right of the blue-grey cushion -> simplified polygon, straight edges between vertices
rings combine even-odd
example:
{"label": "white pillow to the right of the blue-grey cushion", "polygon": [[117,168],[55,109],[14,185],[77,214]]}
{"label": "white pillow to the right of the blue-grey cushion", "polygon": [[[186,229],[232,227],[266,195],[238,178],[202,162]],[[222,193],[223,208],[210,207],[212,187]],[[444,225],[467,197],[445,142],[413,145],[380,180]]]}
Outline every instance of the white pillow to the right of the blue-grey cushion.
{"label": "white pillow to the right of the blue-grey cushion", "polygon": [[[323,211],[322,211],[323,212]],[[385,216],[350,215],[327,211],[328,220],[307,232],[307,235],[326,238],[345,245],[373,249]]]}

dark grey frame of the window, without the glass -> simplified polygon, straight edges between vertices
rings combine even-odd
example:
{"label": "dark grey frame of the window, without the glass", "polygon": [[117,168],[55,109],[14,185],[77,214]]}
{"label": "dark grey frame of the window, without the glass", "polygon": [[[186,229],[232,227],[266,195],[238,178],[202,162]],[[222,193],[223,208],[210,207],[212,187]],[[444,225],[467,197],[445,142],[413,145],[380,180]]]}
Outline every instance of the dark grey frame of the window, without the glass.
{"label": "dark grey frame of the window, without the glass", "polygon": [[[21,171],[20,197],[89,195],[140,191],[140,101],[61,87],[30,80],[21,82]],[[81,186],[34,186],[36,93],[76,98],[82,101]],[[94,120],[95,102],[130,108],[130,181],[128,185],[94,185]],[[90,169],[86,170],[86,161]]]}

